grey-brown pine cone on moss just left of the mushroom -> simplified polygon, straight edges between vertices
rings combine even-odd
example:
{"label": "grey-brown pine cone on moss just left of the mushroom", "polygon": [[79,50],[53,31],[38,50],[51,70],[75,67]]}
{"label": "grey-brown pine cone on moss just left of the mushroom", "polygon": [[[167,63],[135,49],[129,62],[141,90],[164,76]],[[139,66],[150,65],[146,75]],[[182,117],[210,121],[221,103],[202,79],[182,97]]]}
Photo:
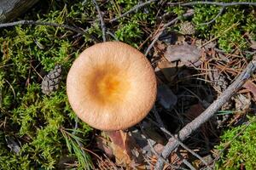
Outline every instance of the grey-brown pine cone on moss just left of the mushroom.
{"label": "grey-brown pine cone on moss just left of the mushroom", "polygon": [[55,69],[49,71],[49,73],[43,78],[41,83],[43,94],[49,95],[59,88],[59,83],[61,82],[61,72],[61,65],[56,65]]}

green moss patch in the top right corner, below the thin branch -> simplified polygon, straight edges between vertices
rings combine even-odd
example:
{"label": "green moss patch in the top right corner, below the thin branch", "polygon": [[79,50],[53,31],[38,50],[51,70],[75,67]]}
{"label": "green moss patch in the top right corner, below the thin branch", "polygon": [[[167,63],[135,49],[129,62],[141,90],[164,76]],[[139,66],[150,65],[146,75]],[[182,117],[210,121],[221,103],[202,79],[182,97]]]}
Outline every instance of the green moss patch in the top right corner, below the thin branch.
{"label": "green moss patch in the top right corner, below the thin branch", "polygon": [[218,15],[222,7],[197,5],[195,6],[195,23],[199,37],[211,39],[218,37],[218,48],[226,52],[234,48],[245,50],[249,47],[246,35],[255,37],[256,19],[255,11],[252,6],[231,6],[224,9],[224,12],[218,16],[214,22],[208,25],[202,25],[213,20]]}

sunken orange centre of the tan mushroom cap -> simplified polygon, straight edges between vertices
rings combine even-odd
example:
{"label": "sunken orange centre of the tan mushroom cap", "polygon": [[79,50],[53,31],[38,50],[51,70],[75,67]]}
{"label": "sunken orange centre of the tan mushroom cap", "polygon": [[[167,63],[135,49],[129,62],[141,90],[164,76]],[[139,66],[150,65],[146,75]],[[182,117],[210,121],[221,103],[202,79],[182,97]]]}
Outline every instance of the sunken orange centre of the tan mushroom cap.
{"label": "sunken orange centre of the tan mushroom cap", "polygon": [[[119,68],[100,67],[90,75],[90,95],[101,105],[117,104],[125,98],[130,88],[124,71]],[[120,73],[122,72],[122,73]]]}

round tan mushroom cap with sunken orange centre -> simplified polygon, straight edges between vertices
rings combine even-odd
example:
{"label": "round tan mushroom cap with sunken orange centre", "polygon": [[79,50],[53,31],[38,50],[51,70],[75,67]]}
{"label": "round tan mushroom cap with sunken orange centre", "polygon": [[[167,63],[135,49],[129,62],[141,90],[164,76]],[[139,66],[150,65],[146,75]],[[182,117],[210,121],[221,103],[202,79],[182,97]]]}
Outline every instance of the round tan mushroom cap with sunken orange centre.
{"label": "round tan mushroom cap with sunken orange centre", "polygon": [[124,42],[98,43],[74,61],[67,96],[73,111],[91,127],[125,129],[154,105],[154,70],[141,52]]}

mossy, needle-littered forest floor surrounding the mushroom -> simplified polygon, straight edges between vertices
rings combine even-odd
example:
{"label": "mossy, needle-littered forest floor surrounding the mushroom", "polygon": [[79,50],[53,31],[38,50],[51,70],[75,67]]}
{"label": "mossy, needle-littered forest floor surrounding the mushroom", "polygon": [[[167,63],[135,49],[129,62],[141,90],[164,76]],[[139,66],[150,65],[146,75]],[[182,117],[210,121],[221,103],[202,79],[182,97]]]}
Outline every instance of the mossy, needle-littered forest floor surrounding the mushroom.
{"label": "mossy, needle-littered forest floor surrounding the mushroom", "polygon": [[[47,0],[15,20],[30,21],[0,24],[0,168],[256,167],[255,74],[193,133],[173,136],[256,59],[256,4],[175,2]],[[73,60],[103,41],[140,50],[159,82],[152,111],[120,132],[123,145],[81,122],[66,94]],[[54,73],[53,88],[43,79]]]}

